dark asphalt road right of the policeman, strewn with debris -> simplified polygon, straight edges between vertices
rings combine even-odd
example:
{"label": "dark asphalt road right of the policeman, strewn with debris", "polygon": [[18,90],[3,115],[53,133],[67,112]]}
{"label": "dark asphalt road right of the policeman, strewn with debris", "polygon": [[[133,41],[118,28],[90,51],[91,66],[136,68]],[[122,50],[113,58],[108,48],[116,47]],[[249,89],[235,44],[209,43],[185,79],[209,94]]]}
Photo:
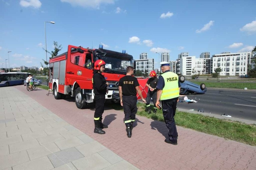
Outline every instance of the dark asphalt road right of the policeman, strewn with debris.
{"label": "dark asphalt road right of the policeman, strewn with debris", "polygon": [[[197,103],[179,102],[178,108],[191,110],[203,109],[205,113],[227,114],[234,118],[256,121],[256,91],[207,89],[202,95],[187,95]],[[180,97],[179,100],[183,100]]]}

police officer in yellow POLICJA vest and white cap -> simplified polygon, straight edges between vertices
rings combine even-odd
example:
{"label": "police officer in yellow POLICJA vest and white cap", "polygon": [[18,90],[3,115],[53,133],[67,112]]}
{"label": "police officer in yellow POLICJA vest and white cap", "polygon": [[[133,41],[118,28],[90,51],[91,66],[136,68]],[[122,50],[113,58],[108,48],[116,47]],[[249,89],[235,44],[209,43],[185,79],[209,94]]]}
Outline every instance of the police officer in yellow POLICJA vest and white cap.
{"label": "police officer in yellow POLICJA vest and white cap", "polygon": [[164,142],[177,145],[177,129],[175,125],[175,111],[180,92],[180,82],[178,75],[170,71],[170,63],[161,62],[163,74],[159,76],[157,83],[157,102],[156,105],[160,109],[159,100],[162,101],[163,117],[168,128],[168,136],[170,139],[165,139]]}

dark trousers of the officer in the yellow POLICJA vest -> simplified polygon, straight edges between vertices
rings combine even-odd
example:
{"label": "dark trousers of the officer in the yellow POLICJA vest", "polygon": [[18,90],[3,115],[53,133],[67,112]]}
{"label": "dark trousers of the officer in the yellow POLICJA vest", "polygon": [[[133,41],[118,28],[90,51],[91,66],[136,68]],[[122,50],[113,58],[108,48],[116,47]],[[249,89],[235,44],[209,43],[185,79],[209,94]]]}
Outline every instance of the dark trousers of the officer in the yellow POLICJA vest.
{"label": "dark trousers of the officer in the yellow POLICJA vest", "polygon": [[166,127],[169,130],[169,137],[171,137],[172,140],[177,141],[178,132],[175,125],[175,111],[177,106],[177,98],[167,99],[162,101],[162,107],[163,107],[163,118],[166,124]]}

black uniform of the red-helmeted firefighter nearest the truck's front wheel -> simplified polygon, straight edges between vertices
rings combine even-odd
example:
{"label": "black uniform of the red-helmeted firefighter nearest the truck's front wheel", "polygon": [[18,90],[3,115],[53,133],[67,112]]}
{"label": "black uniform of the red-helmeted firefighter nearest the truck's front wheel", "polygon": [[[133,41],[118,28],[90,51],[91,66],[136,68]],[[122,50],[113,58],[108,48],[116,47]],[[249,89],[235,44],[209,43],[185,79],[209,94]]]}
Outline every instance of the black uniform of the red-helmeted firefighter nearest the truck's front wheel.
{"label": "black uniform of the red-helmeted firefighter nearest the truck's front wheel", "polygon": [[[93,75],[93,92],[94,92],[94,100],[96,102],[95,106],[95,113],[94,113],[94,120],[100,122],[101,128],[102,127],[102,114],[104,112],[104,103],[105,103],[105,94],[107,92],[107,84],[106,84],[105,77],[96,72]],[[107,128],[107,127],[105,127]]]}

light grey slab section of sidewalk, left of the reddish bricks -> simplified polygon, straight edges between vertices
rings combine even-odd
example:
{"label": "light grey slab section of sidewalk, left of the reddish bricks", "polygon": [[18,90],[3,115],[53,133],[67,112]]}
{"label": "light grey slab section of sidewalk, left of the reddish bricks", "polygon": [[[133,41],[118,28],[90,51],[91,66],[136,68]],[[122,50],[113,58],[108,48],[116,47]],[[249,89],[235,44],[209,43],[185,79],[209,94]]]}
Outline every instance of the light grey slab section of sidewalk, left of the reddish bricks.
{"label": "light grey slab section of sidewalk, left of the reddish bricks", "polygon": [[0,169],[137,169],[14,86],[0,96]]}

